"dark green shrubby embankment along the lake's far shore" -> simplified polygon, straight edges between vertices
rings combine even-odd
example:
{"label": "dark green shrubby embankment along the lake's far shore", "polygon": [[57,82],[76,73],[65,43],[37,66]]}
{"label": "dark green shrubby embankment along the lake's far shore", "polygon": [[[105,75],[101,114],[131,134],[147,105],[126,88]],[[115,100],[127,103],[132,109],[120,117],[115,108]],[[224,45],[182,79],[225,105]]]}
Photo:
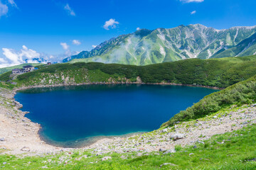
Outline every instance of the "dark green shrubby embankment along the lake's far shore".
{"label": "dark green shrubby embankment along the lake's far shore", "polygon": [[[225,88],[256,74],[256,57],[189,59],[147,66],[84,63],[53,64],[21,74],[18,86],[86,83],[170,83]],[[6,80],[8,72],[0,76]]]}

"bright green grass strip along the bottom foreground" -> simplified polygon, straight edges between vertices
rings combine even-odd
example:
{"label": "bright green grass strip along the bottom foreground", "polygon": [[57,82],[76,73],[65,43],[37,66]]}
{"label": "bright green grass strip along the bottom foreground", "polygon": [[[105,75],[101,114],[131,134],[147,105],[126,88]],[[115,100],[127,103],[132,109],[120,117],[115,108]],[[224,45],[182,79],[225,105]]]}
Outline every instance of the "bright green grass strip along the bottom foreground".
{"label": "bright green grass strip along the bottom foreground", "polygon": [[[252,124],[242,130],[215,135],[204,144],[196,143],[197,148],[176,146],[178,152],[173,154],[152,152],[141,157],[137,153],[96,156],[92,151],[45,157],[1,155],[0,169],[256,169],[255,134],[256,125]],[[85,154],[87,158],[76,160]],[[102,161],[106,156],[112,159]],[[161,166],[164,163],[172,165]]]}

